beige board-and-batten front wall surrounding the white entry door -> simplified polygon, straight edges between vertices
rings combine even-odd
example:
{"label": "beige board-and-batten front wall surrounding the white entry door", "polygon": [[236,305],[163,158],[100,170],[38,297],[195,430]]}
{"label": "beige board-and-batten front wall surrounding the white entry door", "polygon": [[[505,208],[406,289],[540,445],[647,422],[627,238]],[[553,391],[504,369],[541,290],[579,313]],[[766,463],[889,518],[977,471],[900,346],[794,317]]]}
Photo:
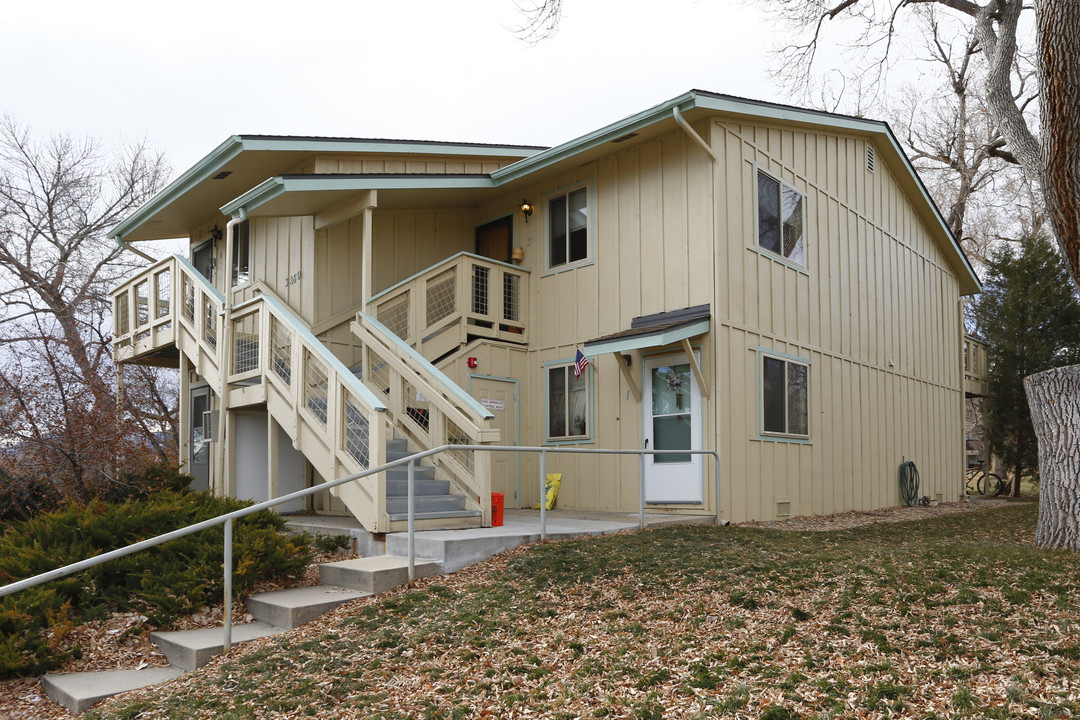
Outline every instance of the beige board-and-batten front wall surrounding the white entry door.
{"label": "beige board-and-batten front wall surrounding the white entry door", "polygon": [[[707,127],[701,126],[699,132]],[[582,344],[630,327],[643,314],[713,302],[712,160],[683,131],[631,146],[611,146],[611,154],[515,190],[480,207],[480,221],[512,212],[524,195],[537,212],[528,223],[514,213],[514,245],[525,250],[522,267],[531,271],[528,307],[529,348],[521,382],[523,445],[546,444],[545,369],[569,362]],[[620,148],[620,149],[617,149]],[[545,270],[548,199],[589,188],[591,262],[559,272]],[[713,365],[710,337],[693,341],[706,375]],[[669,349],[671,350],[671,349]],[[648,351],[659,352],[659,349]],[[630,393],[612,355],[592,358],[592,437],[584,448],[639,448],[642,404]],[[640,354],[633,372],[643,388]],[[480,370],[484,371],[483,364]],[[710,377],[712,383],[713,379]],[[704,398],[705,446],[713,447],[715,424]],[[558,506],[632,511],[638,504],[638,461],[633,456],[551,454],[549,473],[562,473]],[[522,505],[539,501],[539,460],[523,454]],[[713,468],[705,462],[705,503],[710,513]],[[508,498],[508,506],[512,506]]]}

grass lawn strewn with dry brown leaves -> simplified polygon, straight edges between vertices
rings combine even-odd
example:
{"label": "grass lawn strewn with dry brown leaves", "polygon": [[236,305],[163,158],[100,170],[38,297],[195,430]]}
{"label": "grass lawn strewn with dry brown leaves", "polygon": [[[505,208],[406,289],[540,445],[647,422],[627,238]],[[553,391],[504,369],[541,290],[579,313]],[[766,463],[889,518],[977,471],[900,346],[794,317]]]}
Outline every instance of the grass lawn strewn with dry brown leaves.
{"label": "grass lawn strewn with dry brown leaves", "polygon": [[1075,717],[1080,556],[1036,514],[521,548],[89,717]]}

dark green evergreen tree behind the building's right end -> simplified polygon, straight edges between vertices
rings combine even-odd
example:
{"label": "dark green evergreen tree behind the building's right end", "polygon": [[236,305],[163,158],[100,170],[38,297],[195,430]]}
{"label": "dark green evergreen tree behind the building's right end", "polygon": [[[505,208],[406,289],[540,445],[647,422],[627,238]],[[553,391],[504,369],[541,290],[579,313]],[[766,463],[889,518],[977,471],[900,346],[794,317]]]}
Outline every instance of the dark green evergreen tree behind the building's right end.
{"label": "dark green evergreen tree behind the building's right end", "polygon": [[977,332],[987,345],[985,439],[1017,481],[1038,473],[1039,457],[1024,378],[1080,363],[1080,302],[1061,255],[1044,236],[1020,252],[995,253],[975,301]]}

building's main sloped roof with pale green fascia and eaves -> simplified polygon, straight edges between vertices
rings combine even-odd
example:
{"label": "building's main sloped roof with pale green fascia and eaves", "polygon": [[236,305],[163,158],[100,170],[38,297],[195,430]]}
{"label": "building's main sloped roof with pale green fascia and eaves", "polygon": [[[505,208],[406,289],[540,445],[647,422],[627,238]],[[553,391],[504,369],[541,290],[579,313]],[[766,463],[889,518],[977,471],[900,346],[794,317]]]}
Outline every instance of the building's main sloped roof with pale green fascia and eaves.
{"label": "building's main sloped roof with pale green fascia and eaves", "polygon": [[[747,120],[765,119],[809,130],[839,131],[875,138],[879,158],[893,169],[901,188],[956,270],[960,279],[961,293],[970,294],[982,289],[971,262],[949,231],[941,210],[934,204],[930,192],[915,172],[888,123],[701,90],[691,90],[568,142],[546,149],[536,146],[427,140],[238,135],[226,140],[118,225],[110,235],[125,241],[179,236],[188,231],[188,228],[180,227],[181,217],[185,215],[190,217],[191,213],[195,212],[193,208],[202,208],[204,213],[207,210],[213,213],[211,208],[220,208],[222,213],[230,215],[239,213],[241,208],[252,210],[271,201],[275,201],[283,208],[291,207],[295,204],[281,200],[283,193],[289,192],[319,191],[334,192],[338,195],[372,189],[447,191],[469,189],[472,192],[484,192],[488,188],[501,188],[524,180],[538,172],[555,168],[561,164],[580,165],[589,162],[592,158],[610,152],[608,145],[610,142],[618,142],[635,133],[660,132],[663,130],[660,127],[661,123],[674,123],[676,113],[691,121],[711,114],[723,114]],[[365,174],[338,175],[333,176],[332,180],[326,176],[288,174],[303,157],[310,157],[314,152],[475,154],[517,160],[489,175],[468,178],[437,174],[415,176]],[[287,164],[289,160],[292,165]],[[308,194],[307,198],[310,202],[316,195]],[[151,229],[150,226],[157,227]]]}

